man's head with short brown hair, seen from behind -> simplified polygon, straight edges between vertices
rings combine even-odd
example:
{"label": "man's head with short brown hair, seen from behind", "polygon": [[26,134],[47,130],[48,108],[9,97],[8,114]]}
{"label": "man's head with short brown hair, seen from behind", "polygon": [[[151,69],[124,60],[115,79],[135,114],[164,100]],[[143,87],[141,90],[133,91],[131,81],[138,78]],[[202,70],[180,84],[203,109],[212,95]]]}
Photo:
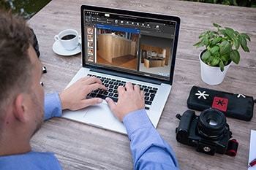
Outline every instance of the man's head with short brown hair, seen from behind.
{"label": "man's head with short brown hair, seen from behind", "polygon": [[0,10],[0,142],[10,128],[31,137],[42,123],[42,65],[32,41],[25,20]]}

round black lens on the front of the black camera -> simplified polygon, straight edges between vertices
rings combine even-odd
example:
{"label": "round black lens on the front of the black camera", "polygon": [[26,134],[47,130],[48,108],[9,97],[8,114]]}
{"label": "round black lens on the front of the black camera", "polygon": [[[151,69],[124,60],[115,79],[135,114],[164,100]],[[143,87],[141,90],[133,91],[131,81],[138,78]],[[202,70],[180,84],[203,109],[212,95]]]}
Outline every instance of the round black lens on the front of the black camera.
{"label": "round black lens on the front of the black camera", "polygon": [[204,110],[198,120],[198,133],[208,139],[219,139],[225,131],[226,117],[217,109]]}

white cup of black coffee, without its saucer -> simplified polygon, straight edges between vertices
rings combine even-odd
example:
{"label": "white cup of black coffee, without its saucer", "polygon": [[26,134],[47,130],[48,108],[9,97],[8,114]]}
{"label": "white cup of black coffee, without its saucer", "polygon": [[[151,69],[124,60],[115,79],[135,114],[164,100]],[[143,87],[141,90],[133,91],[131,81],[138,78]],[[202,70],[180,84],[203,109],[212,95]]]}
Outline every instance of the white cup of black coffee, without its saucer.
{"label": "white cup of black coffee, without its saucer", "polygon": [[74,50],[79,44],[78,31],[75,31],[75,29],[65,29],[58,35],[54,36],[54,39],[61,42],[61,45],[66,50]]}

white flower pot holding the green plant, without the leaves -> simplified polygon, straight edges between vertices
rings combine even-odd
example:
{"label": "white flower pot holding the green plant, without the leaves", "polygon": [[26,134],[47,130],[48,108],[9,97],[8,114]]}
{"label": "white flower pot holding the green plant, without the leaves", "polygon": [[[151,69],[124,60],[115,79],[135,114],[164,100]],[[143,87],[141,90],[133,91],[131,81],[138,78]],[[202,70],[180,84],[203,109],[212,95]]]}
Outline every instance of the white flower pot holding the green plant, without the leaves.
{"label": "white flower pot holding the green plant, without the leaves", "polygon": [[208,66],[206,63],[203,63],[201,59],[203,52],[204,51],[202,51],[199,55],[201,78],[203,82],[206,82],[208,85],[219,85],[224,80],[227,69],[230,67],[232,62],[230,62],[227,66],[224,66],[224,71],[222,72],[219,66]]}

